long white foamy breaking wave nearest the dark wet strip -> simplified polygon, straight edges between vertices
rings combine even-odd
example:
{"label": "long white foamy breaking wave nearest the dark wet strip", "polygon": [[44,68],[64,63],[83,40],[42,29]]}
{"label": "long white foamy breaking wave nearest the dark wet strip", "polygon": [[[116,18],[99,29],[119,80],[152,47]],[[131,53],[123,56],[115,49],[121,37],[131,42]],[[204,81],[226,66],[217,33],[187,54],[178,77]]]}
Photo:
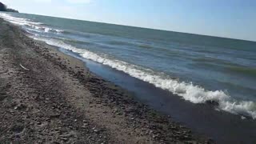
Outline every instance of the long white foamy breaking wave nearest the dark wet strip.
{"label": "long white foamy breaking wave nearest the dark wet strip", "polygon": [[219,103],[218,109],[225,110],[232,114],[242,114],[256,118],[256,105],[255,102],[250,101],[237,101],[231,98],[222,90],[205,90],[200,86],[195,86],[192,82],[179,82],[178,80],[168,78],[168,76],[156,73],[153,70],[135,66],[127,62],[122,62],[117,59],[111,59],[105,54],[95,54],[89,50],[78,49],[70,46],[62,41],[54,39],[36,38],[44,41],[49,45],[62,47],[66,50],[78,53],[82,58],[90,59],[94,62],[102,63],[103,65],[110,66],[116,70],[121,70],[134,78],[141,79],[144,82],[149,82],[156,87],[163,90],[177,94],[186,101],[193,103],[204,103],[207,101],[216,101]]}

